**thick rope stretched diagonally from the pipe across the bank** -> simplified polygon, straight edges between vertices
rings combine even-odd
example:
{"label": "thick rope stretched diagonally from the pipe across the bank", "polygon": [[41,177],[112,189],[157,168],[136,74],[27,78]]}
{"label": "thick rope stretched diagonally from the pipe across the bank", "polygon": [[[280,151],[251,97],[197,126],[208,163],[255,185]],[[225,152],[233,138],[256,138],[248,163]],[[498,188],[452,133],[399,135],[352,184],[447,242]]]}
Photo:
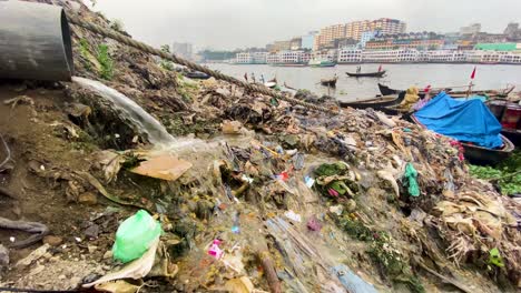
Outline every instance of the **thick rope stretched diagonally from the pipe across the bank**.
{"label": "thick rope stretched diagonally from the pipe across the bank", "polygon": [[108,30],[108,29],[105,29],[105,28],[99,27],[97,24],[94,24],[94,23],[90,23],[90,22],[85,22],[78,16],[75,16],[72,13],[67,14],[67,18],[69,19],[69,21],[71,23],[77,24],[79,27],[82,27],[82,28],[85,28],[85,29],[87,29],[89,31],[92,31],[92,32],[101,34],[104,37],[114,39],[114,40],[116,40],[116,41],[118,41],[120,43],[127,44],[127,46],[132,47],[135,49],[138,49],[138,50],[140,50],[142,52],[147,52],[147,53],[150,53],[150,54],[154,54],[154,55],[158,55],[158,57],[160,57],[163,59],[173,61],[174,63],[181,64],[181,65],[185,65],[185,67],[190,68],[193,70],[204,72],[204,73],[206,73],[206,74],[208,74],[210,77],[214,77],[215,79],[224,80],[224,81],[227,81],[229,83],[243,87],[243,88],[245,88],[245,89],[247,89],[249,91],[266,94],[266,95],[273,97],[275,99],[279,99],[279,100],[289,102],[292,104],[299,104],[302,107],[313,109],[313,110],[316,110],[316,111],[322,111],[322,112],[326,112],[326,113],[330,113],[330,114],[337,114],[337,112],[333,111],[332,109],[328,109],[328,108],[325,108],[325,107],[320,107],[320,105],[312,104],[312,103],[307,103],[307,102],[301,101],[301,100],[295,99],[295,98],[284,97],[284,95],[281,95],[277,92],[275,92],[275,91],[273,91],[273,90],[271,90],[271,89],[268,89],[268,88],[266,88],[264,85],[247,83],[247,82],[240,81],[240,80],[238,80],[236,78],[233,78],[233,77],[223,74],[220,72],[214,71],[214,70],[212,70],[212,69],[209,69],[207,67],[203,67],[203,65],[199,65],[199,64],[194,63],[191,61],[188,61],[186,59],[183,59],[183,58],[180,58],[180,57],[178,57],[176,54],[168,54],[168,53],[163,52],[161,50],[156,49],[156,48],[154,48],[151,46],[148,46],[148,44],[139,42],[139,41],[136,41],[136,40],[134,40],[134,39],[131,39],[129,37],[126,37],[126,36],[124,36],[124,34],[121,34],[119,32],[116,32],[115,30]]}

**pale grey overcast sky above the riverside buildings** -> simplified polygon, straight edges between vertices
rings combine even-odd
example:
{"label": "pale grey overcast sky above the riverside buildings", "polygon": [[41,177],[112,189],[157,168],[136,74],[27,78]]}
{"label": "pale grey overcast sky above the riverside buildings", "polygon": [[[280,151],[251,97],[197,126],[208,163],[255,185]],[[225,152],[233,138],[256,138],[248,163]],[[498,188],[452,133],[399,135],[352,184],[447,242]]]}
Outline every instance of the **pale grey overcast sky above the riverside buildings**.
{"label": "pale grey overcast sky above the riverside buildings", "polygon": [[521,21],[521,0],[97,0],[134,38],[153,46],[264,47],[354,20],[395,18],[407,31],[452,32],[472,22],[502,32]]}

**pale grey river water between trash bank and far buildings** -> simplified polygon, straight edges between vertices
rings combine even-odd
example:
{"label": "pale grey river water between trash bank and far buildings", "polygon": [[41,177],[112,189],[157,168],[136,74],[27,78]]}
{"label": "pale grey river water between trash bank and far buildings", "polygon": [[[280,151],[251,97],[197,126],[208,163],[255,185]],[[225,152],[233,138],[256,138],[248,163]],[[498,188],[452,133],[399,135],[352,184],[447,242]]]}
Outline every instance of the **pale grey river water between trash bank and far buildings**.
{"label": "pale grey river water between trash bank and far buildings", "polygon": [[[424,88],[431,84],[433,88],[453,88],[464,90],[462,87],[469,84],[473,64],[383,64],[387,74],[381,79],[375,78],[350,78],[346,71],[355,72],[357,64],[340,64],[334,68],[289,68],[272,67],[266,64],[206,64],[212,69],[220,70],[223,73],[244,80],[244,73],[255,74],[257,81],[260,74],[266,80],[274,77],[282,84],[286,82],[296,89],[307,89],[315,93],[336,97],[338,100],[353,101],[379,94],[377,82],[390,85],[393,89],[406,89],[411,85]],[[376,71],[380,64],[362,64],[362,72]],[[317,84],[321,79],[340,77],[336,90],[328,90]],[[504,89],[508,85],[517,85],[515,91],[521,90],[521,65],[493,64],[476,65],[475,84],[473,89]],[[330,91],[330,92],[328,92]]]}

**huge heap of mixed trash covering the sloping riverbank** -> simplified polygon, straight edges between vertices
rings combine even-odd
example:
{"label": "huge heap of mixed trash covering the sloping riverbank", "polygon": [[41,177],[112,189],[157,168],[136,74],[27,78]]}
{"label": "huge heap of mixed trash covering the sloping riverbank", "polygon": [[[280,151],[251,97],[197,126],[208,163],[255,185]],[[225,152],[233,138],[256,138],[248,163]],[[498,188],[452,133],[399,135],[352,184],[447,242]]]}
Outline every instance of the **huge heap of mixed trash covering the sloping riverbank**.
{"label": "huge heap of mixed trash covering the sloping riverbank", "polygon": [[[110,26],[79,2],[63,6],[85,21]],[[78,223],[60,231],[72,241],[32,244],[30,259],[0,245],[0,264],[8,267],[0,287],[242,293],[521,286],[520,203],[470,176],[456,142],[372,109],[332,117],[215,79],[195,82],[85,29],[72,26],[71,33],[77,74],[110,87],[125,105],[71,82],[56,89],[66,103],[53,109],[59,114],[46,120],[37,113],[40,123],[60,130],[43,146],[57,140],[52,148],[83,158],[78,170],[72,159],[59,161],[50,151],[29,164],[39,184],[63,194]],[[96,59],[102,44],[110,79]],[[327,98],[298,97],[338,109]],[[129,111],[129,101],[138,109]],[[154,134],[164,129],[173,137]],[[7,176],[9,183],[12,174]],[[53,218],[60,214],[40,219]],[[50,226],[50,233],[57,231]],[[27,265],[4,261],[6,254]],[[73,266],[75,259],[81,270],[63,273],[71,281],[60,282],[55,270]]]}

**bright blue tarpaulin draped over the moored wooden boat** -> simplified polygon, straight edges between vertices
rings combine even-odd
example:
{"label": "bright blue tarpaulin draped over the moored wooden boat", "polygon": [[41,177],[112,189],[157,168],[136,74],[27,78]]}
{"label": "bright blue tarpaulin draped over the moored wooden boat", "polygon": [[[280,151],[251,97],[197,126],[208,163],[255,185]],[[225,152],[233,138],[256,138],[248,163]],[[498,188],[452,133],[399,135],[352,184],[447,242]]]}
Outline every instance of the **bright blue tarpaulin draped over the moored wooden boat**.
{"label": "bright blue tarpaulin draped over the moored wooden boat", "polygon": [[501,146],[501,124],[479,99],[454,100],[439,93],[414,113],[427,129],[463,142],[494,149]]}

